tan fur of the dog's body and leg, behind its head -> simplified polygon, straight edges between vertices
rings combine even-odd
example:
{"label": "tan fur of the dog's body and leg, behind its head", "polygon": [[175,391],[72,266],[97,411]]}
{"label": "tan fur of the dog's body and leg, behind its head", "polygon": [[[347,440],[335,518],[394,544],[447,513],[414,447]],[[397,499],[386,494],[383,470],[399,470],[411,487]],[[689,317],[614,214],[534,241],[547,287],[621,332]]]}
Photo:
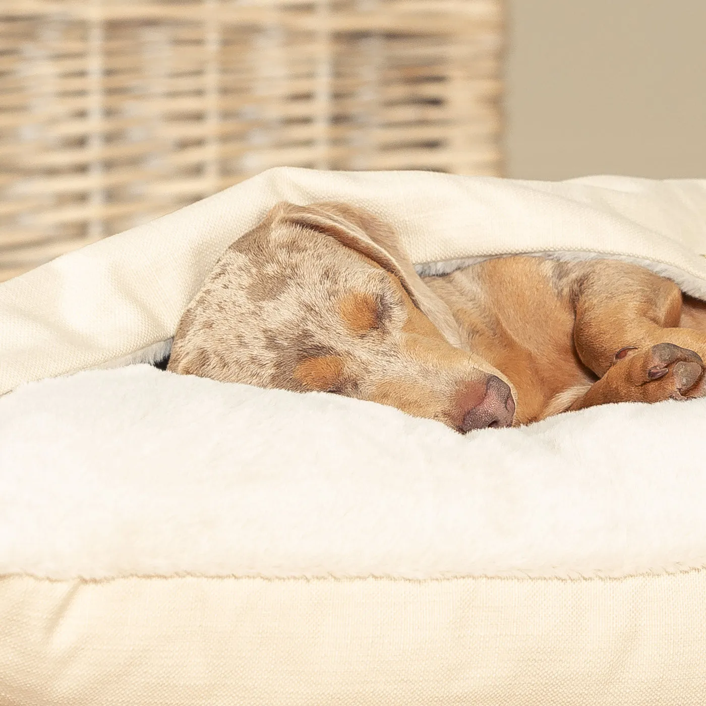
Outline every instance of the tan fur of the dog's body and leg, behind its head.
{"label": "tan fur of the dog's body and leg, behind its head", "polygon": [[[426,281],[450,305],[467,345],[513,381],[521,424],[566,409],[706,391],[702,371],[693,388],[679,387],[688,381],[688,351],[706,357],[706,306],[683,306],[674,282],[637,265],[517,256]],[[690,328],[678,327],[685,323]],[[650,381],[647,370],[662,365],[652,349],[665,342],[686,352],[673,352],[664,377]],[[626,346],[634,349],[616,360]]]}

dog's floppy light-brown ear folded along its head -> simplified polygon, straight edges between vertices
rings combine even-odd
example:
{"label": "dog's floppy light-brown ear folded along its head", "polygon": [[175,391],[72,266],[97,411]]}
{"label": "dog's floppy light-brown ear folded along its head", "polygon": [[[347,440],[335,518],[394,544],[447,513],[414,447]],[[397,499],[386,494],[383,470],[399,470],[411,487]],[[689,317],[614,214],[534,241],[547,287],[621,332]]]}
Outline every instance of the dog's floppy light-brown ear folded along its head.
{"label": "dog's floppy light-brown ear folded along its head", "polygon": [[414,304],[444,335],[460,347],[458,326],[446,304],[417,275],[412,261],[392,226],[369,211],[345,203],[315,203],[297,206],[280,203],[271,213],[272,223],[294,225],[335,238],[357,250],[400,280]]}

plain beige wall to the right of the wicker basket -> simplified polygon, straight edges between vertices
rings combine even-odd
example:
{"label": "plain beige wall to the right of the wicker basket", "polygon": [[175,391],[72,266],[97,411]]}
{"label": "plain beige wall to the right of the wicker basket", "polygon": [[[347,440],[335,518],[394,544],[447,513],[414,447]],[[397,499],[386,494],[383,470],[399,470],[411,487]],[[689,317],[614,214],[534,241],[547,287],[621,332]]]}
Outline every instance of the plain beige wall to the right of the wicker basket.
{"label": "plain beige wall to the right of the wicker basket", "polygon": [[706,0],[506,7],[506,176],[706,178]]}

